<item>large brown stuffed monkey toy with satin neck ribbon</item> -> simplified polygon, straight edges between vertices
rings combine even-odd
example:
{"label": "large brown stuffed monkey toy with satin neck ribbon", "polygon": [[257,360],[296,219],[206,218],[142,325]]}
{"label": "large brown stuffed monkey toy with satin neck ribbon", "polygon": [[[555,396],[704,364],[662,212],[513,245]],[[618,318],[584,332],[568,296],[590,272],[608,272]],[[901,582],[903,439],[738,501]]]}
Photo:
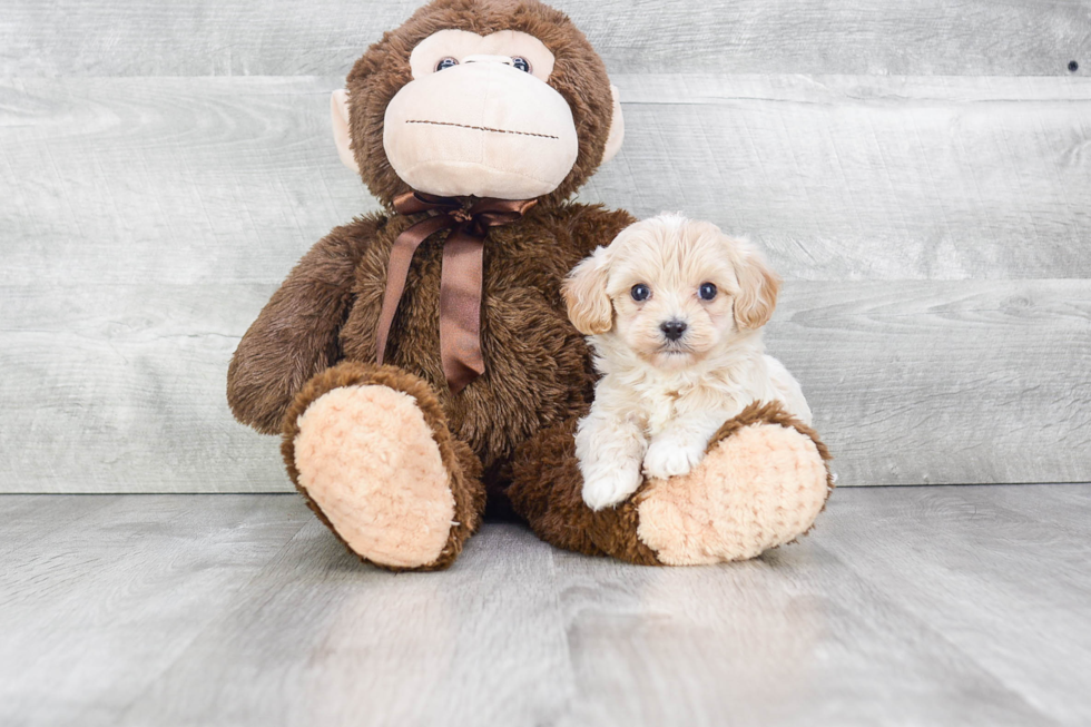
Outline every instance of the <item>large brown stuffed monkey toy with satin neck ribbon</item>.
{"label": "large brown stuffed monkey toy with satin neck ribbon", "polygon": [[648,564],[749,558],[804,533],[826,451],[775,405],[615,509],[581,499],[594,374],[561,284],[633,218],[570,202],[621,145],[618,94],[537,0],[435,0],[333,96],[342,160],[384,210],[303,257],[239,342],[235,416],[362,560],[449,567],[486,503],[561,548]]}

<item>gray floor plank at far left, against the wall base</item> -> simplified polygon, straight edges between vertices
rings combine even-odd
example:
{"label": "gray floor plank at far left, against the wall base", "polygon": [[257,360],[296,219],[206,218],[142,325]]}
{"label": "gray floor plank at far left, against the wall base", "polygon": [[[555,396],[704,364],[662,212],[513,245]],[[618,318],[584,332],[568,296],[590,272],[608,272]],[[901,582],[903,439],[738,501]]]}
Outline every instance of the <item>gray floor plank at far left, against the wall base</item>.
{"label": "gray floor plank at far left, against the wall base", "polygon": [[[6,554],[4,725],[115,724],[309,522],[294,498],[98,500],[83,498],[85,517]],[[47,530],[68,505],[41,504],[18,522]]]}

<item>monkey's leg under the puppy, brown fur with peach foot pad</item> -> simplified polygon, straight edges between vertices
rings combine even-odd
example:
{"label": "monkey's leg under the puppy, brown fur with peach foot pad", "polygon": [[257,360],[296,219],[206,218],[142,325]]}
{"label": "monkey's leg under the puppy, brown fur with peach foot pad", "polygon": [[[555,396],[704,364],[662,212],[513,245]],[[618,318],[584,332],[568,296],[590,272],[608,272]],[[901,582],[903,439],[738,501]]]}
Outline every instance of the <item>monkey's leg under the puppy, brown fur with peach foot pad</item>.
{"label": "monkey's leg under the puppy, brown fur with peach foot pad", "polygon": [[754,558],[806,533],[829,494],[826,448],[776,405],[750,405],[720,428],[688,474],[646,481],[616,508],[583,504],[577,420],[517,454],[508,493],[559,548],[649,566]]}

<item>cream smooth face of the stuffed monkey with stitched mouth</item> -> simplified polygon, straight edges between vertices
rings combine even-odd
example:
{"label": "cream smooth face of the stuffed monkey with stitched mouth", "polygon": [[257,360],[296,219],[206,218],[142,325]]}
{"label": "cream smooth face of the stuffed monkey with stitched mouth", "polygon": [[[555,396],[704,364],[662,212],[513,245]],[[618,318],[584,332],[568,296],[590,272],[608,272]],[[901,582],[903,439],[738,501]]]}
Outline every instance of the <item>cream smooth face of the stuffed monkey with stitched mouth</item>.
{"label": "cream smooth face of the stuffed monkey with stitched mouth", "polygon": [[412,188],[529,199],[568,176],[572,111],[547,82],[553,55],[533,36],[441,30],[413,49],[413,80],[386,107],[383,147]]}

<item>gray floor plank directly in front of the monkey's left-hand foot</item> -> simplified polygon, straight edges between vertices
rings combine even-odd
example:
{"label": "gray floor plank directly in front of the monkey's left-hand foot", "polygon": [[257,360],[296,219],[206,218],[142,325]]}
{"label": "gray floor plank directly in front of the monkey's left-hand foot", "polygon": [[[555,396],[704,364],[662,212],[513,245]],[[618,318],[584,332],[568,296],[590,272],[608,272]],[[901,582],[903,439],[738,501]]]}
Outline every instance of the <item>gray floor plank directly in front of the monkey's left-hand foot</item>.
{"label": "gray floor plank directly in front of the monkey's left-hand foot", "polygon": [[[391,578],[312,522],[118,724],[557,724],[576,688],[553,557],[501,527]],[[238,699],[255,679],[298,698]]]}

